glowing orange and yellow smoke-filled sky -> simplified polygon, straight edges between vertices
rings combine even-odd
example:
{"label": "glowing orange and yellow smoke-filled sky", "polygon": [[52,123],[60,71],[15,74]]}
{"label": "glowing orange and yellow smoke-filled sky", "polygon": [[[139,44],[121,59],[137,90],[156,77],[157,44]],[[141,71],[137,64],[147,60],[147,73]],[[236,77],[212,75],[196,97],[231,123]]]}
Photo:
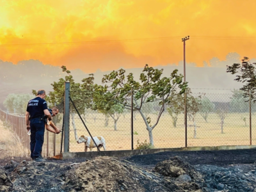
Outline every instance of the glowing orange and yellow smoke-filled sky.
{"label": "glowing orange and yellow smoke-filled sky", "polygon": [[[84,72],[167,65],[182,60],[186,35],[187,61],[198,66],[214,56],[225,60],[228,52],[255,58],[255,7],[255,0],[0,0],[0,60],[35,59]],[[166,36],[178,38],[149,40]],[[3,46],[86,41],[99,42]]]}

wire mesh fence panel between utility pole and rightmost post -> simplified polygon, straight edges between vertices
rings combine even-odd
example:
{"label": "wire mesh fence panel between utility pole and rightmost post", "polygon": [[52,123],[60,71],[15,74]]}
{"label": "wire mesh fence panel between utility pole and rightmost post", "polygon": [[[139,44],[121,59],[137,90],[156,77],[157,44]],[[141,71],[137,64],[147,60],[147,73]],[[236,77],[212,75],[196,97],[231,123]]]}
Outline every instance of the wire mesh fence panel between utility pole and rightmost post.
{"label": "wire mesh fence panel between utility pole and rightmost post", "polygon": [[232,93],[205,94],[198,111],[188,111],[188,147],[250,145],[249,115],[248,102]]}

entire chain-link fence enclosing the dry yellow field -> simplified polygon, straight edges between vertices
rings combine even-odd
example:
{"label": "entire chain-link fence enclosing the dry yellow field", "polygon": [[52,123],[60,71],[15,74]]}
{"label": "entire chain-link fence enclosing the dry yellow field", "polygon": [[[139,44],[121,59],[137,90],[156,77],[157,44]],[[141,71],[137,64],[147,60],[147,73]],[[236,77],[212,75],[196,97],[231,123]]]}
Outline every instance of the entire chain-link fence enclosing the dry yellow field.
{"label": "entire chain-link fence enclosing the dry yellow field", "polygon": [[[251,141],[252,145],[255,145],[256,104],[251,102],[252,113],[250,113],[250,101],[244,99],[243,94],[238,90],[225,90],[225,92],[218,90],[218,93],[216,91],[205,93],[202,90],[201,93],[196,93],[194,90],[191,96],[195,100],[188,97],[188,147],[250,145]],[[106,150],[131,150],[132,139],[134,149],[150,148],[152,147],[149,145],[150,143],[154,145],[154,148],[175,148],[185,147],[186,143],[183,105],[184,100],[182,99],[179,107],[172,103],[166,104],[151,136],[147,125],[152,127],[157,122],[160,111],[157,102],[143,104],[141,111],[134,110],[133,125],[129,109],[117,110],[116,113],[113,111],[100,113],[92,109],[84,109],[80,115],[93,137],[104,138]],[[70,106],[72,106],[71,102]],[[52,122],[62,129],[64,105],[61,104],[58,108],[60,113],[53,118]],[[252,116],[252,126],[250,126],[250,115]],[[24,116],[0,111],[0,118],[4,124],[8,124],[9,129],[19,136],[22,145],[29,148],[30,140]],[[70,107],[69,152],[83,152],[85,143],[77,143],[77,139],[80,136],[90,137],[81,118],[76,110]],[[133,127],[133,132],[131,132],[131,127]],[[61,133],[53,134],[45,131],[44,156],[60,154]],[[95,151],[97,148],[93,148],[93,150]]]}

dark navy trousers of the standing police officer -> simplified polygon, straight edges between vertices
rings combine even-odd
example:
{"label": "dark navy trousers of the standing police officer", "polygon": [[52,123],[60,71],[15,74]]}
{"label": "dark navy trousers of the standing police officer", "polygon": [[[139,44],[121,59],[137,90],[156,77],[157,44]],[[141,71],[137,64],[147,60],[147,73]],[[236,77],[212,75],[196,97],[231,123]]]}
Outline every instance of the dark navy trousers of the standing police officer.
{"label": "dark navy trousers of the standing police officer", "polygon": [[44,144],[45,123],[40,118],[34,118],[30,121],[30,157],[35,159],[41,156],[42,147]]}

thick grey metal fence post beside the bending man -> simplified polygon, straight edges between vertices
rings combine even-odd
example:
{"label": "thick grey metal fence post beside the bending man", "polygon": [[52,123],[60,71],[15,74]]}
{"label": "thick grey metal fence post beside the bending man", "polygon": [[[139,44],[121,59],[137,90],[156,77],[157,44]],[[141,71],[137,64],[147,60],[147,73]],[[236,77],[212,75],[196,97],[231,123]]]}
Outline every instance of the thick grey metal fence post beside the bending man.
{"label": "thick grey metal fence post beside the bending man", "polygon": [[70,82],[65,82],[65,100],[64,100],[64,152],[69,152],[69,95]]}

